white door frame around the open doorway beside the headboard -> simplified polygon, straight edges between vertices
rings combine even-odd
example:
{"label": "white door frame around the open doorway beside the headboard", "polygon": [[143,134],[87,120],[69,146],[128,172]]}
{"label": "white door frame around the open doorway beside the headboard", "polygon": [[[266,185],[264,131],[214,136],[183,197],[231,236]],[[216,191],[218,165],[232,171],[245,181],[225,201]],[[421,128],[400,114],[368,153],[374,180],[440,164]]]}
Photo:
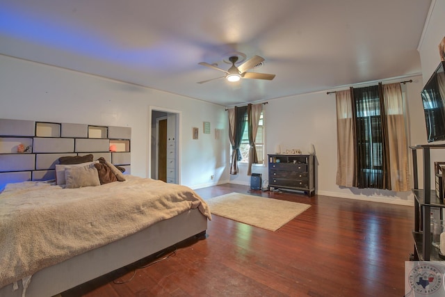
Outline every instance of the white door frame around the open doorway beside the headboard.
{"label": "white door frame around the open doorway beside the headboard", "polygon": [[[152,112],[153,111],[161,111],[163,113],[174,113],[176,115],[176,176],[177,176],[177,184],[181,184],[181,139],[182,139],[182,129],[181,129],[181,118],[182,111],[177,111],[175,109],[166,109],[165,107],[159,106],[149,106],[148,112],[148,162],[149,166],[147,166],[147,177],[152,178]],[[154,141],[157,142],[157,131],[155,131],[156,135],[154,135]],[[155,147],[157,147],[157,143],[155,143]],[[156,150],[156,148],[155,148]],[[157,152],[155,151],[155,154]],[[157,155],[156,155],[157,156]],[[157,160],[157,157],[156,157]],[[156,166],[156,165],[155,165]],[[157,170],[157,167],[156,167]]]}

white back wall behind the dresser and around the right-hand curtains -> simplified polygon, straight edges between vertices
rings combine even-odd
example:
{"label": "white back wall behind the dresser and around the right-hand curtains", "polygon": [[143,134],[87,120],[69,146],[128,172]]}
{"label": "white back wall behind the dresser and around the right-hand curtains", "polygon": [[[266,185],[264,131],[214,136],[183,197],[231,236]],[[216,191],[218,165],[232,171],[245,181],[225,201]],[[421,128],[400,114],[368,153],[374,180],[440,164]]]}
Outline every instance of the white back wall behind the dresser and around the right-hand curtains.
{"label": "white back wall behind the dresser and around the right-hand curtains", "polygon": [[[408,118],[414,119],[414,133],[411,138],[425,138],[426,128],[423,118],[420,91],[423,86],[421,77],[412,77],[412,83],[402,85],[410,111]],[[408,79],[404,79],[408,80]],[[401,80],[397,80],[401,81]],[[391,83],[395,81],[387,81]],[[375,200],[400,204],[412,204],[410,192],[396,193],[374,189],[341,188],[335,184],[337,175],[337,114],[335,94],[325,91],[298,95],[281,99],[268,100],[264,106],[266,121],[266,152],[275,153],[276,145],[282,151],[299,149],[307,154],[312,143],[316,150],[316,193],[342,198]],[[423,125],[423,129],[419,126]],[[249,184],[247,167],[239,166],[240,174],[231,177],[236,184]],[[268,179],[267,167],[255,167],[252,172],[261,173]]]}

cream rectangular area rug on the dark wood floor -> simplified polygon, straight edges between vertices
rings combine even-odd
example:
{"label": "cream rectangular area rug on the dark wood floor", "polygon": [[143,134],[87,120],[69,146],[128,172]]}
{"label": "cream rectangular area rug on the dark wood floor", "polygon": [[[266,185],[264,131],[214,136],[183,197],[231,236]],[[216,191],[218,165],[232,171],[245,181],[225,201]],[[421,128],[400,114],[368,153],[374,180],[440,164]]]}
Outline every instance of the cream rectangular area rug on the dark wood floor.
{"label": "cream rectangular area rug on the dark wood floor", "polygon": [[271,231],[280,229],[310,207],[308,204],[241,193],[221,195],[206,202],[211,214]]}

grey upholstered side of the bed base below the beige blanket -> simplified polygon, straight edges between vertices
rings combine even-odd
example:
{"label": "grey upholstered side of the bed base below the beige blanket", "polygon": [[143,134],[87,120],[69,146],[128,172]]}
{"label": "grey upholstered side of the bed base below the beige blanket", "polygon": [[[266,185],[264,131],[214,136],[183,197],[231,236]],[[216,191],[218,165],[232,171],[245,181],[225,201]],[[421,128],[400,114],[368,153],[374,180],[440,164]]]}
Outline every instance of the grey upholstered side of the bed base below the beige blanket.
{"label": "grey upholstered side of the bed base below the beige blanket", "polygon": [[[136,234],[38,271],[31,277],[26,296],[54,296],[206,230],[207,217],[198,209],[188,210]],[[22,281],[17,284],[16,290],[13,290],[13,284],[1,288],[0,296],[21,297]]]}

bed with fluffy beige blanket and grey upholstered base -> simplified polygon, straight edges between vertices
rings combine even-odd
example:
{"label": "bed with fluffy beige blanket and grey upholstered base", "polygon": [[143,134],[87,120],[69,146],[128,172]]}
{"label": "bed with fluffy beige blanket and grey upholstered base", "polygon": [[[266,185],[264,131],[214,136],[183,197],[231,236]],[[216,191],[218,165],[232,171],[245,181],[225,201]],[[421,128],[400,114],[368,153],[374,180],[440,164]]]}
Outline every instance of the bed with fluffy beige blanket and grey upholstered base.
{"label": "bed with fluffy beige blanket and grey upholstered base", "polygon": [[211,220],[186,186],[125,175],[70,188],[66,177],[65,186],[20,182],[0,193],[0,296],[54,296],[202,236]]}

